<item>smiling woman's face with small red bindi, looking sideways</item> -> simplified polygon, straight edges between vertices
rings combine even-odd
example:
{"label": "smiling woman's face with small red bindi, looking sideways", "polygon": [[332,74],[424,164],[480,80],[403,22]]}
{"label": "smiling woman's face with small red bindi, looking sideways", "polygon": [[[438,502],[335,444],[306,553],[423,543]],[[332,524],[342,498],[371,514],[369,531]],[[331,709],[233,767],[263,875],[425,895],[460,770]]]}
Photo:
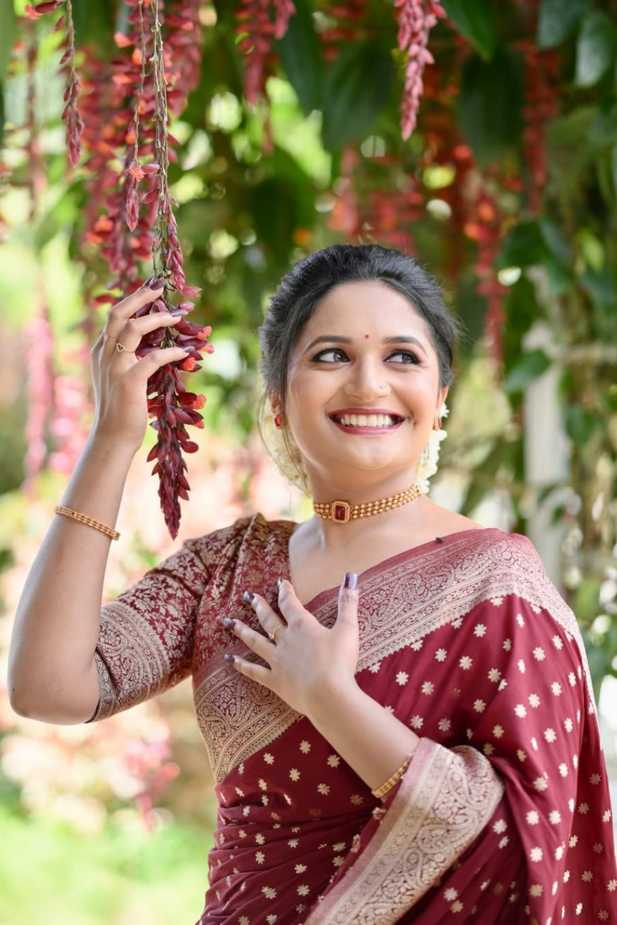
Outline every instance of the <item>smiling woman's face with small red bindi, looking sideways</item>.
{"label": "smiling woman's face with small red bindi, looking sideways", "polygon": [[412,481],[447,391],[410,303],[385,283],[345,283],[320,303],[291,354],[285,422],[314,482],[403,473]]}

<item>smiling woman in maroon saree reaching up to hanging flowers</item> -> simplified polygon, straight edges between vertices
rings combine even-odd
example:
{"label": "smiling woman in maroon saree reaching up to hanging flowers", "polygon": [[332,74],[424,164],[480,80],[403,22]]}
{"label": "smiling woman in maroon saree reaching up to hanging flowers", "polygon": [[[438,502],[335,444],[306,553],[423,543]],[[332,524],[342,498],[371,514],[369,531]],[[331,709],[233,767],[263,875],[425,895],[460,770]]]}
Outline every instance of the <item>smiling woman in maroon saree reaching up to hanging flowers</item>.
{"label": "smiling woman in maroon saree reaching up to hanging flowers", "polygon": [[120,302],[93,353],[96,425],[20,602],[15,709],[104,720],[192,675],[219,805],[200,925],[614,925],[574,614],[528,540],[418,487],[456,334],[433,277],[377,245],[290,271],[265,405],[315,516],[193,539],[101,612],[146,381],[180,359],[131,357],[151,298]]}

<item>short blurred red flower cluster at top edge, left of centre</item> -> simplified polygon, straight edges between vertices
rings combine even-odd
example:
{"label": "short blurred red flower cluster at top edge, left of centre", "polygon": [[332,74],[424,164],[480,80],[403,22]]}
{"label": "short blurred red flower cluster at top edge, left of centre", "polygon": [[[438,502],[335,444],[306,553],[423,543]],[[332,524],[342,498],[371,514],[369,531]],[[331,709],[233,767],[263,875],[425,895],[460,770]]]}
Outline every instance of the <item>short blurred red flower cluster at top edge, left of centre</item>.
{"label": "short blurred red flower cluster at top edge, left of centre", "polygon": [[264,94],[265,80],[276,60],[272,43],[285,35],[295,11],[291,0],[242,0],[236,13],[236,34],[246,58],[244,96],[249,105]]}

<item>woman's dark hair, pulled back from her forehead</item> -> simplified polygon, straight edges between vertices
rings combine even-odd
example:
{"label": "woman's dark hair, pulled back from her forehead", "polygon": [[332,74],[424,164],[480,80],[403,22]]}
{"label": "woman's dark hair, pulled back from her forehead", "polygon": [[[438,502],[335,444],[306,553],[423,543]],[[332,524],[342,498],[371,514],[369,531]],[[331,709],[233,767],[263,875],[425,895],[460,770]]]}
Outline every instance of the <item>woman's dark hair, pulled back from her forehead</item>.
{"label": "woman's dark hair, pulled back from her forehead", "polygon": [[414,257],[379,244],[332,244],[291,267],[272,296],[259,339],[265,391],[285,401],[290,357],[302,329],[330,290],[344,283],[386,283],[426,322],[438,354],[439,385],[450,386],[457,324],[438,282]]}

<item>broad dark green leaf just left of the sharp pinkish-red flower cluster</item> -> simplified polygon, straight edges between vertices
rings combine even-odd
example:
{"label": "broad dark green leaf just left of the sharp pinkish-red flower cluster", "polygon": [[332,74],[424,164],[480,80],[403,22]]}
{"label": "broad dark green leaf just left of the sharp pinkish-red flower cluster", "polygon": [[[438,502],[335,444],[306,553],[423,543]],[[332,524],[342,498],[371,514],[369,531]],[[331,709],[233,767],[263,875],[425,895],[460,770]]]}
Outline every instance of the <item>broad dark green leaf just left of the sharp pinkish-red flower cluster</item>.
{"label": "broad dark green leaf just left of the sharp pinkish-red flower cluster", "polygon": [[368,134],[386,104],[394,68],[375,43],[352,43],[327,73],[322,138],[328,150]]}

